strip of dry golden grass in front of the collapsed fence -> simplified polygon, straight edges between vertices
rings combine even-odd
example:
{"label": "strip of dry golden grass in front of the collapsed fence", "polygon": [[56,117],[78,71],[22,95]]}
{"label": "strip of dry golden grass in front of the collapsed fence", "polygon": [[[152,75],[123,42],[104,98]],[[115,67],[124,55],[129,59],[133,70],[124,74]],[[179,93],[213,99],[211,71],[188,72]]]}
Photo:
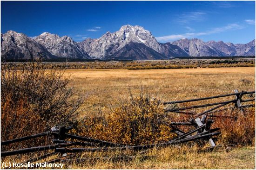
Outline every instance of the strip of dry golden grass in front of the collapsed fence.
{"label": "strip of dry golden grass in front of the collapsed fence", "polygon": [[227,151],[198,152],[198,146],[187,145],[181,149],[168,147],[152,149],[146,160],[139,156],[130,161],[113,162],[109,159],[66,163],[70,169],[255,169],[255,147]]}

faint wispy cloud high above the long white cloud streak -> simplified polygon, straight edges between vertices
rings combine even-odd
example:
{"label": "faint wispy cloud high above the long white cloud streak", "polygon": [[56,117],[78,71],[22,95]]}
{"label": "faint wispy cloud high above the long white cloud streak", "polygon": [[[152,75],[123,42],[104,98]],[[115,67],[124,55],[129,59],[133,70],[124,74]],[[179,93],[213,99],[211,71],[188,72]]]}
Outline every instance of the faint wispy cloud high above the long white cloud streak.
{"label": "faint wispy cloud high above the long white cloud streak", "polygon": [[183,13],[177,18],[177,21],[180,23],[188,23],[190,21],[202,21],[205,15],[206,13],[203,12]]}

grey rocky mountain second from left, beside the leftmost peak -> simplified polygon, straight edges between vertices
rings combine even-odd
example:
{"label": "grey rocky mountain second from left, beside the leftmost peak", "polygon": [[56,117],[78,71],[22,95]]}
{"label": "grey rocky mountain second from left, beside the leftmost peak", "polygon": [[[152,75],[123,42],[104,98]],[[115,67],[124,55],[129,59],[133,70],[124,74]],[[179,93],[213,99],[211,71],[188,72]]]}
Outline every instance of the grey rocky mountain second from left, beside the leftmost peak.
{"label": "grey rocky mountain second from left, beside the leftmost peak", "polygon": [[35,38],[35,41],[46,47],[46,49],[58,57],[67,58],[90,58],[88,54],[78,46],[72,38],[44,32]]}

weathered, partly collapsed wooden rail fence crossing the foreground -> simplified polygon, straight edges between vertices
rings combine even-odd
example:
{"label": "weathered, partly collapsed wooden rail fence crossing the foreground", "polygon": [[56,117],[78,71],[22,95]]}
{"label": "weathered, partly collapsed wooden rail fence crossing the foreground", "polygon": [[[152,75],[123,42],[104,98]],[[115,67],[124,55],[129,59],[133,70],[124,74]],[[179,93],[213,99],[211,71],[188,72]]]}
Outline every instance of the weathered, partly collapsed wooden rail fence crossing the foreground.
{"label": "weathered, partly collapsed wooden rail fence crossing the foreground", "polygon": [[[244,102],[255,101],[255,98],[243,100],[242,97],[246,94],[251,94],[252,96],[255,96],[255,91],[238,92],[238,90],[235,90],[235,93],[233,94],[224,94],[224,95],[184,100],[184,101],[164,102],[163,103],[164,105],[169,105],[169,104],[186,103],[186,102],[193,102],[193,101],[204,101],[204,100],[223,98],[223,97],[234,95],[234,100],[230,100],[230,101],[221,101],[221,102],[209,103],[209,104],[203,104],[203,105],[195,105],[195,106],[189,106],[189,107],[175,107],[175,108],[166,109],[166,112],[191,114],[191,118],[188,122],[171,122],[171,124],[168,124],[168,126],[172,128],[172,132],[175,132],[176,134],[178,134],[178,136],[175,139],[172,139],[165,143],[151,144],[151,145],[136,145],[136,146],[123,145],[123,144],[117,144],[113,142],[103,141],[99,139],[92,139],[88,137],[79,136],[76,134],[67,133],[67,131],[70,130],[72,126],[68,126],[68,127],[60,126],[58,129],[54,126],[50,131],[47,131],[47,132],[42,132],[42,133],[33,134],[33,135],[22,137],[22,138],[1,142],[1,145],[4,146],[4,145],[10,145],[10,144],[21,142],[21,141],[26,141],[28,139],[35,139],[43,136],[48,136],[48,137],[52,136],[53,138],[52,145],[37,146],[37,147],[24,148],[24,149],[18,149],[13,151],[1,151],[1,157],[7,157],[7,156],[12,156],[17,154],[26,154],[26,153],[38,152],[38,151],[54,150],[53,152],[47,153],[43,156],[35,157],[30,160],[27,160],[26,163],[27,162],[33,163],[33,162],[39,161],[40,159],[50,157],[54,154],[60,154],[60,157],[58,157],[57,159],[53,159],[47,163],[67,162],[67,161],[83,162],[88,159],[97,159],[97,158],[85,158],[85,159],[75,158],[74,159],[75,154],[77,152],[120,151],[120,150],[141,151],[141,150],[147,150],[153,147],[178,145],[181,143],[195,141],[199,139],[208,140],[211,146],[209,147],[209,149],[212,149],[216,147],[216,144],[214,143],[212,137],[219,135],[220,132],[218,131],[220,129],[219,128],[211,129],[210,128],[211,124],[214,121],[211,118],[207,119],[207,117],[233,118],[233,116],[220,116],[220,115],[212,114],[220,111],[220,110],[216,110],[217,108],[226,106],[230,103],[234,104],[235,107],[237,107],[238,109],[241,109],[242,111],[244,108],[247,108],[247,107],[255,107],[254,104],[247,104],[247,105],[241,104]],[[209,107],[209,106],[215,106],[215,107],[211,109],[207,109],[202,113],[184,112],[184,110]],[[191,126],[191,127],[194,127],[194,129],[189,132],[182,132],[177,127],[177,125]],[[71,147],[71,146],[77,146],[77,147]],[[123,159],[132,159],[134,157],[135,156],[123,156],[123,157],[119,156],[119,157],[111,157],[111,159],[123,160]],[[147,156],[142,155],[141,157],[145,158]]]}

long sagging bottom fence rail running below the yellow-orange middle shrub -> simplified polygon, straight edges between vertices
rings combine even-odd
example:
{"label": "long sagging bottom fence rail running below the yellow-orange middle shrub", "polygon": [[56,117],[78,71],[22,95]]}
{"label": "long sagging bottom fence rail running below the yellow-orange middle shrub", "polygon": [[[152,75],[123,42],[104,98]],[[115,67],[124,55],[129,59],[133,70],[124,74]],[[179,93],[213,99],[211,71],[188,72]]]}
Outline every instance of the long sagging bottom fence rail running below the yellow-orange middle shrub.
{"label": "long sagging bottom fence rail running below the yellow-orange middle shrub", "polygon": [[138,145],[138,146],[121,146],[121,147],[108,147],[108,148],[56,148],[56,152],[95,152],[95,151],[115,151],[115,150],[127,150],[127,149],[132,149],[132,150],[142,150],[142,149],[148,149],[148,148],[153,148],[153,147],[158,147],[158,146],[167,146],[167,145],[174,145],[178,143],[184,143],[188,142],[191,140],[196,140],[196,139],[203,139],[203,138],[210,138],[212,136],[216,136],[220,134],[220,132],[213,132],[213,133],[208,133],[204,135],[196,135],[195,137],[190,137],[187,139],[181,139],[177,141],[170,141],[167,143],[162,143],[162,144],[152,144],[152,145]]}

